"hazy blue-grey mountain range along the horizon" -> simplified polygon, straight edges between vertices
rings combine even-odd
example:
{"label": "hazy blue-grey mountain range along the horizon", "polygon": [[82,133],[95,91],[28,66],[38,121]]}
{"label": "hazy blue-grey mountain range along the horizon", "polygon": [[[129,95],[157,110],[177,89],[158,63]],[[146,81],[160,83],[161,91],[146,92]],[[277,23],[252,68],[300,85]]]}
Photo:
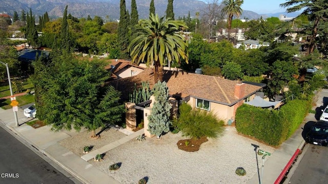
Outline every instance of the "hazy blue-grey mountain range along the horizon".
{"label": "hazy blue-grey mountain range along the horizon", "polygon": [[[148,18],[150,2],[151,0],[136,0],[139,18]],[[154,2],[155,12],[160,16],[165,15],[168,0],[156,0]],[[64,9],[68,5],[68,13],[77,18],[97,15],[104,19],[109,17],[115,20],[119,19],[119,4],[120,0],[1,0],[0,12],[6,12],[13,16],[14,11],[16,11],[19,16],[22,10],[27,13],[31,8],[32,14],[36,18],[45,12],[48,12],[51,18],[56,18],[63,16]],[[126,0],[126,7],[131,12],[131,0]],[[175,18],[187,17],[189,12],[193,17],[196,12],[200,12],[200,14],[204,12],[207,4],[197,0],[175,0],[173,7]],[[252,11],[243,10],[240,18],[258,19],[261,16],[263,18],[271,17],[270,15],[259,15]]]}

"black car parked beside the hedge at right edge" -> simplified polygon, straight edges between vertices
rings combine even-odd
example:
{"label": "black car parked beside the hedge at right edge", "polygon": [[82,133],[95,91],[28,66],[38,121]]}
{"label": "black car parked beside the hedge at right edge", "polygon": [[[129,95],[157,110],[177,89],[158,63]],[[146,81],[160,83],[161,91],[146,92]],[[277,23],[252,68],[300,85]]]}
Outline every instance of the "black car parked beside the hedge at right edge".
{"label": "black car parked beside the hedge at right edge", "polygon": [[311,130],[306,133],[306,143],[314,145],[327,146],[328,145],[328,122],[317,121]]}

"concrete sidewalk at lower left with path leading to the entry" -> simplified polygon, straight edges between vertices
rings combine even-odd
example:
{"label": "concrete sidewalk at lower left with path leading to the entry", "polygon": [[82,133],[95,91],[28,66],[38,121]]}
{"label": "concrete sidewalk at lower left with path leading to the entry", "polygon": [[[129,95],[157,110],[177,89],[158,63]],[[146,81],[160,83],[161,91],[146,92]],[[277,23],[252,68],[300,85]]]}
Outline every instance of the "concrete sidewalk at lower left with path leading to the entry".
{"label": "concrete sidewalk at lower left with path leading to the entry", "polygon": [[135,139],[143,130],[131,133],[112,144],[97,149],[86,156],[88,159],[75,155],[72,151],[58,144],[60,140],[64,140],[71,135],[64,131],[53,132],[50,127],[43,126],[37,129],[26,124],[33,121],[32,118],[26,118],[23,109],[17,111],[19,126],[15,126],[14,115],[12,109],[4,110],[0,108],[0,124],[12,130],[15,134],[22,137],[30,145],[51,158],[60,167],[64,168],[70,174],[74,175],[83,183],[119,183],[108,174],[100,171],[96,167],[89,164],[86,160],[93,158],[97,153],[104,153],[112,148],[124,144],[132,139]]}

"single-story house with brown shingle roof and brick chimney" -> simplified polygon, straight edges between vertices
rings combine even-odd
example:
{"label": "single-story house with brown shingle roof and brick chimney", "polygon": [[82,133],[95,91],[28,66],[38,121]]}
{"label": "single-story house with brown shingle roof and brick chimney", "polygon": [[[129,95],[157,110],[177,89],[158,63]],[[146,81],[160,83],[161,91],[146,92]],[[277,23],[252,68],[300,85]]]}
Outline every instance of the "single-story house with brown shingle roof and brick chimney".
{"label": "single-story house with brown shingle roof and brick chimney", "polygon": [[[193,108],[212,111],[218,119],[226,123],[234,120],[236,109],[244,101],[254,99],[255,93],[265,86],[183,71],[165,71],[163,80],[167,82],[171,97],[178,101],[185,101]],[[134,77],[111,81],[110,84],[121,91],[123,100],[128,101],[134,85],[141,87],[142,81],[149,81],[150,86],[153,87],[151,68],[146,68],[144,72]]]}

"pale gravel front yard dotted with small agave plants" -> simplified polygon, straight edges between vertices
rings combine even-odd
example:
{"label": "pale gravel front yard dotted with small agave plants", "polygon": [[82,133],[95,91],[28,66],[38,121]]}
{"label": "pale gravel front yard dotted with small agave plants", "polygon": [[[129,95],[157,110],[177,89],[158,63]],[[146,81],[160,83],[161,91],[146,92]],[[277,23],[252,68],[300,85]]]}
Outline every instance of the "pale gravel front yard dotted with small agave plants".
{"label": "pale gravel front yard dotted with small agave plants", "polygon": [[[103,137],[95,142],[117,140],[116,134],[122,133],[113,131],[115,130],[103,132]],[[110,137],[108,134],[115,135]],[[71,138],[70,143],[64,140],[62,145],[69,148],[76,146],[76,142],[89,139],[86,135]],[[247,183],[257,174],[256,153],[251,144],[258,145],[259,149],[267,152],[272,153],[275,150],[273,147],[238,135],[233,126],[227,126],[224,135],[217,140],[209,139],[203,143],[197,152],[179,150],[176,143],[182,139],[186,137],[181,137],[180,133],[168,133],[163,135],[160,141],[155,137],[146,138],[143,142],[131,140],[106,152],[101,162],[89,160],[89,163],[121,183],[137,183],[143,177],[148,178],[148,183]],[[260,166],[262,159],[261,156],[257,157]],[[109,166],[115,163],[121,163],[121,167],[116,171],[110,171]],[[238,167],[243,167],[247,174],[235,174]]]}

